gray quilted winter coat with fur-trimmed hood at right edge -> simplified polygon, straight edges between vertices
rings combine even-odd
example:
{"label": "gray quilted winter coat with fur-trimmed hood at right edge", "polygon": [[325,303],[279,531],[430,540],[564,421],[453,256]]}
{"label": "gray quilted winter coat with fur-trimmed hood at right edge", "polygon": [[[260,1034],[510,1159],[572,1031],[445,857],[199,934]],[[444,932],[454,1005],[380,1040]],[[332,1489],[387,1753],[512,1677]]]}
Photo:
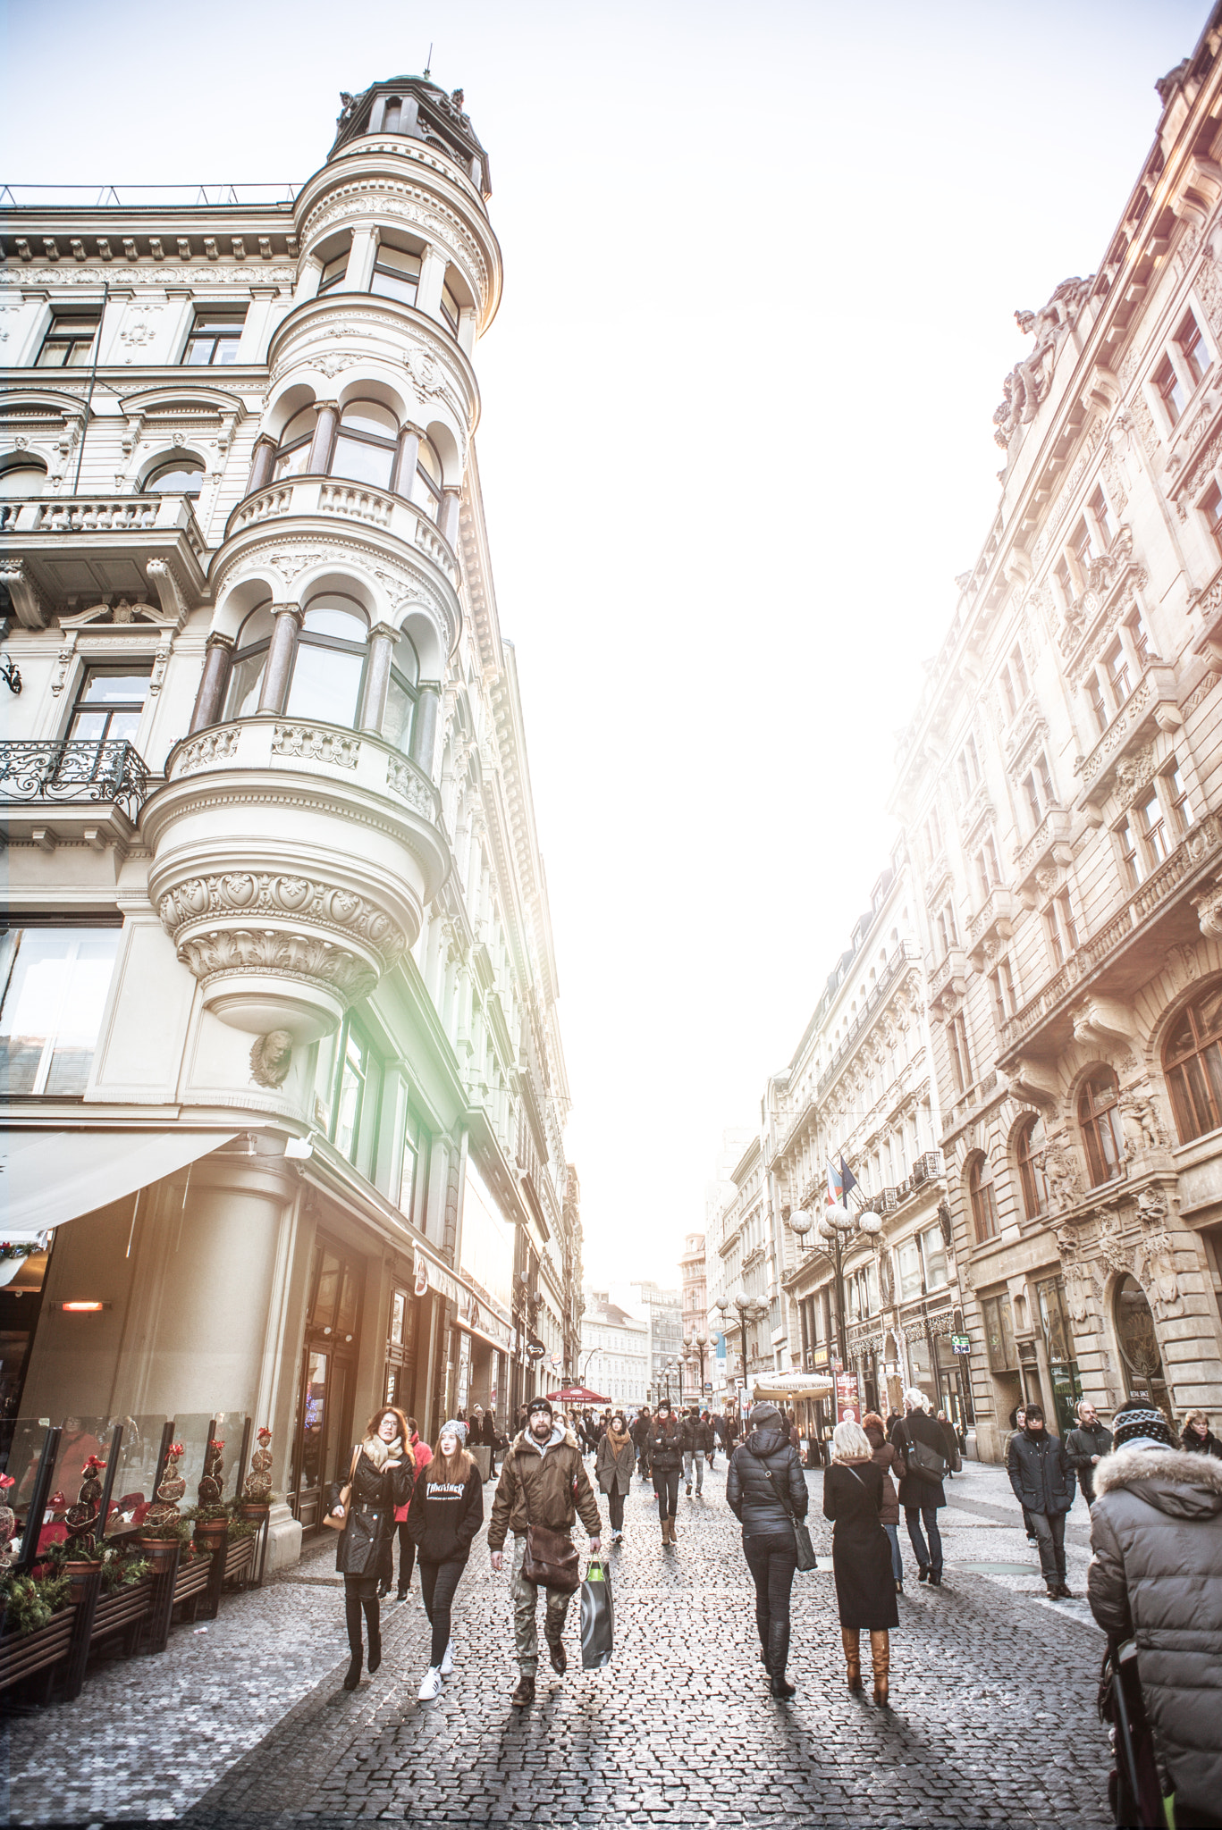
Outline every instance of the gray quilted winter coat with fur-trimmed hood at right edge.
{"label": "gray quilted winter coat with fur-trimmed hood at right edge", "polygon": [[1217,1821],[1222,1797],[1222,1462],[1121,1448],[1096,1464],[1090,1612],[1136,1638],[1154,1744],[1176,1801]]}

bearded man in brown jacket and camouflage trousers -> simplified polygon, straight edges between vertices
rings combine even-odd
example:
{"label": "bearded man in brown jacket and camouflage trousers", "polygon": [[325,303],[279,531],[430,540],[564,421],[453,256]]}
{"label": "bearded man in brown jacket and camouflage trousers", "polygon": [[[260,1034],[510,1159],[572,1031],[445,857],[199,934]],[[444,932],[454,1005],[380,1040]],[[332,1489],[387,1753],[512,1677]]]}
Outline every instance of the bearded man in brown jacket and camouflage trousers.
{"label": "bearded man in brown jacket and camouflage trousers", "polygon": [[[562,1534],[572,1539],[579,1515],[590,1534],[590,1550],[601,1550],[603,1523],[577,1438],[572,1429],[562,1429],[555,1422],[551,1404],[546,1398],[531,1398],[528,1427],[515,1437],[500,1464],[493,1519],[487,1528],[493,1570],[504,1566],[506,1537],[513,1534],[509,1592],[513,1596],[513,1640],[518,1660],[518,1684],[511,1696],[515,1709],[526,1709],[533,1704],[539,1669],[539,1625],[535,1618],[539,1588],[535,1583],[528,1583],[522,1574],[526,1530],[528,1524],[537,1524],[548,1534]],[[546,1594],[544,1640],[551,1669],[564,1676],[568,1669],[564,1620],[572,1590],[548,1587]]]}

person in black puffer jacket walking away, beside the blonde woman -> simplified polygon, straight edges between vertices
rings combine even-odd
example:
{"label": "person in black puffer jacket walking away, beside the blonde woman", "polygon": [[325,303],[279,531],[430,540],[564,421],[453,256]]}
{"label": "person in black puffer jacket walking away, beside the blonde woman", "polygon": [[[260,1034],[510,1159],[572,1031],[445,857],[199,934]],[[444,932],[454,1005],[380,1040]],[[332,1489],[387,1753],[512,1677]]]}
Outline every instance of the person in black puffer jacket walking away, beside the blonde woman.
{"label": "person in black puffer jacket walking away, beside the blonde woman", "polygon": [[775,1404],[751,1411],[751,1433],[726,1469],[726,1501],[742,1526],[742,1554],[755,1583],[755,1625],[760,1663],[773,1696],[793,1696],[790,1662],[790,1588],[797,1568],[793,1519],[810,1504],[806,1475],[790,1444],[790,1427]]}

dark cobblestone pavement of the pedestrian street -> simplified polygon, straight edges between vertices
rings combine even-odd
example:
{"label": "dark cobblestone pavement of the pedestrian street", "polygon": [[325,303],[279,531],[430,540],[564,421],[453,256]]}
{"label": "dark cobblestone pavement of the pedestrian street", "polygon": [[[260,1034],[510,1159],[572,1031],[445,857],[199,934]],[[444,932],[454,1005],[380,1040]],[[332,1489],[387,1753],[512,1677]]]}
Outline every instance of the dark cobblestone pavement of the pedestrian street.
{"label": "dark cobblestone pavement of the pedestrian street", "polygon": [[[540,1660],[535,1707],[509,1707],[507,1576],[484,1537],[458,1588],[454,1676],[418,1704],[429,1629],[420,1585],[383,1609],[381,1671],[346,1669],[333,1543],[260,1592],[229,1598],[207,1632],[178,1627],[159,1658],[115,1662],[75,1704],[7,1724],[15,1825],[326,1830],[383,1819],[447,1825],[1044,1826],[1110,1825],[1110,1764],[1094,1698],[1103,1638],[1085,1601],[1050,1603],[1004,1471],[969,1464],[947,1490],[944,1587],[905,1596],[892,1634],[892,1709],[845,1689],[832,1576],[793,1583],[791,1704],[768,1693],[724,1459],[704,1499],[680,1497],[663,1557],[639,1480],[612,1552],[616,1656],[568,1676]],[[815,1546],[830,1552],[821,1475]],[[487,1490],[491,1506],[491,1488]],[[1066,1532],[1085,1588],[1088,1519]],[[584,1546],[584,1534],[579,1532]],[[506,1559],[507,1561],[507,1559]],[[971,1563],[1017,1565],[982,1574]],[[868,1691],[867,1691],[868,1698]]]}

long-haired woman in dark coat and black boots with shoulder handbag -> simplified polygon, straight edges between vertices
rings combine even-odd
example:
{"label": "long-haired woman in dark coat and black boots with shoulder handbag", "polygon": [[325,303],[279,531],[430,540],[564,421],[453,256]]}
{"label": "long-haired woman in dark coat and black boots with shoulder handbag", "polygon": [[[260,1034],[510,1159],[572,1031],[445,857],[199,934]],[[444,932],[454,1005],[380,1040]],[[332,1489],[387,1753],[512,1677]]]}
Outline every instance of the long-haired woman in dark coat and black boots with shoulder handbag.
{"label": "long-haired woman in dark coat and black boots with shoulder handbag", "polygon": [[[407,1418],[394,1405],[385,1405],[370,1416],[365,1437],[352,1451],[346,1482],[333,1480],[330,1510],[333,1519],[344,1519],[335,1546],[335,1568],[344,1579],[344,1621],[352,1663],[344,1689],[355,1691],[361,1682],[361,1614],[368,1629],[368,1673],[381,1663],[381,1616],[377,1607],[377,1577],[383,1557],[390,1554],[390,1534],[398,1506],[412,1497],[414,1464],[407,1453]],[[348,1506],[341,1493],[348,1488]]]}

